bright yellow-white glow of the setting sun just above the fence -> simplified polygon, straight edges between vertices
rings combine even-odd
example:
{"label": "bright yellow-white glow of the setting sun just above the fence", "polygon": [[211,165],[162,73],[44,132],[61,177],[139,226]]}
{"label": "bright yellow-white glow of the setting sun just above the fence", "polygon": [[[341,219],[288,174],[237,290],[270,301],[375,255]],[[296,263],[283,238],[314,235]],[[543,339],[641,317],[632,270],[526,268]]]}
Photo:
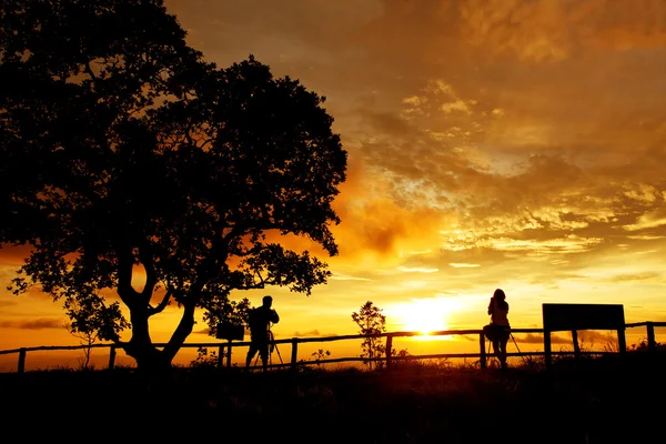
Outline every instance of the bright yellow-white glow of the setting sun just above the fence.
{"label": "bright yellow-white glow of the setting sun just above the fence", "polygon": [[430,334],[448,329],[448,320],[456,303],[445,297],[413,300],[396,306],[404,331]]}

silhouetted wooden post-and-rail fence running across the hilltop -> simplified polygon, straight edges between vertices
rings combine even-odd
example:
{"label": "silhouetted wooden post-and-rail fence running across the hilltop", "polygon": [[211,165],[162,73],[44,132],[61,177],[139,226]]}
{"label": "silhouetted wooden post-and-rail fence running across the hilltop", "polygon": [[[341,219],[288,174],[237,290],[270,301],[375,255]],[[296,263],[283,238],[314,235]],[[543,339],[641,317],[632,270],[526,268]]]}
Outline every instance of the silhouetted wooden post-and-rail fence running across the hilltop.
{"label": "silhouetted wooden post-and-rail fence running across the hilltop", "polygon": [[[657,342],[655,339],[655,327],[666,326],[666,322],[637,322],[632,324],[625,324],[625,329],[630,327],[646,327],[646,342],[647,349],[650,352],[656,351]],[[543,329],[512,329],[512,333],[537,333],[543,334]],[[381,333],[372,336],[362,335],[362,334],[352,334],[352,335],[343,335],[343,336],[321,336],[321,337],[292,337],[286,340],[275,340],[273,344],[291,344],[291,360],[287,363],[281,362],[280,364],[271,364],[270,367],[293,367],[295,369],[299,365],[312,365],[312,364],[327,364],[327,363],[341,363],[341,362],[384,362],[387,367],[395,361],[403,360],[433,360],[433,359],[474,359],[478,360],[478,365],[481,369],[486,369],[487,359],[493,356],[493,354],[488,354],[486,352],[486,339],[484,336],[483,330],[445,330],[438,332],[428,333],[428,336],[455,336],[455,335],[476,335],[478,336],[478,353],[438,353],[438,354],[425,354],[425,355],[408,355],[408,356],[393,356],[393,339],[394,337],[410,337],[410,336],[423,336],[423,333],[420,332],[391,332],[391,333]],[[337,359],[329,359],[329,360],[317,360],[317,361],[300,361],[299,356],[299,344],[303,343],[323,343],[323,342],[333,342],[333,341],[345,341],[345,340],[364,340],[367,337],[386,337],[386,353],[382,356],[376,357],[361,357],[361,356],[347,356],[347,357],[337,357]],[[613,352],[584,352],[581,351],[577,344],[577,335],[576,332],[572,332],[572,337],[574,339],[574,351],[575,355],[578,356],[581,354],[594,354],[594,355],[603,355],[603,354],[613,354]],[[515,339],[514,339],[515,341]],[[154,344],[155,346],[164,346],[165,344]],[[249,346],[249,341],[243,342],[233,342],[228,341],[225,343],[220,342],[205,342],[205,343],[185,343],[182,345],[183,349],[218,349],[218,366],[228,366],[231,367],[231,356],[232,350],[234,347],[243,347]],[[2,350],[0,351],[0,355],[3,354],[13,354],[18,353],[18,373],[23,373],[26,371],[26,357],[28,352],[36,351],[56,351],[56,350],[85,350],[85,349],[109,349],[109,369],[113,369],[115,363],[117,350],[121,347],[118,344],[92,344],[92,345],[47,345],[47,346],[36,346],[36,347],[21,347],[13,350]],[[620,341],[620,350],[619,353],[624,353],[624,344]],[[571,355],[571,352],[517,352],[517,353],[507,353],[507,356],[545,356],[546,362],[549,362],[549,355]],[[224,357],[226,357],[226,362],[224,363]],[[282,360],[281,360],[282,361]]]}

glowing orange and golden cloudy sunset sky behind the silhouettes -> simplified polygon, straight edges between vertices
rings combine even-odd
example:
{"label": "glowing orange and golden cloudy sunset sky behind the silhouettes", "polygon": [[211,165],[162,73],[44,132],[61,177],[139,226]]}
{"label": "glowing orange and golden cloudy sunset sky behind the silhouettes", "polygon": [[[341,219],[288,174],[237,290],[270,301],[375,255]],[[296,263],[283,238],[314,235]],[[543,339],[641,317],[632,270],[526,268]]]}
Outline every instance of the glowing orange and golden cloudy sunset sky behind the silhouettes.
{"label": "glowing orange and golden cloudy sunset sky behind the silhouettes", "polygon": [[[349,151],[330,283],[235,294],[274,296],[276,336],[356,333],[365,301],[390,331],[476,329],[496,287],[516,327],[541,326],[547,302],[666,320],[665,2],[167,4],[208,60],[252,53],[325,95]],[[19,265],[0,250],[2,289]],[[64,321],[47,296],[2,290],[0,350],[75,344]]]}

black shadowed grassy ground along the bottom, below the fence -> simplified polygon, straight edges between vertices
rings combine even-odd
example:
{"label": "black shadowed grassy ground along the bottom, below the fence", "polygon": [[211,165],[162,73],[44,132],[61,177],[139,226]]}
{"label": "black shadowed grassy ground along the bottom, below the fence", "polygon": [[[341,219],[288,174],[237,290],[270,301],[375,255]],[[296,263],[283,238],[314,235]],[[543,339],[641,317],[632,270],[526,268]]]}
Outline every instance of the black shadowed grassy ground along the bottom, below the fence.
{"label": "black shadowed grassy ground along the bottom, below the fence", "polygon": [[629,353],[547,371],[182,367],[150,382],[128,369],[57,370],[1,374],[0,387],[6,434],[34,438],[643,443],[664,442],[665,364],[662,353]]}

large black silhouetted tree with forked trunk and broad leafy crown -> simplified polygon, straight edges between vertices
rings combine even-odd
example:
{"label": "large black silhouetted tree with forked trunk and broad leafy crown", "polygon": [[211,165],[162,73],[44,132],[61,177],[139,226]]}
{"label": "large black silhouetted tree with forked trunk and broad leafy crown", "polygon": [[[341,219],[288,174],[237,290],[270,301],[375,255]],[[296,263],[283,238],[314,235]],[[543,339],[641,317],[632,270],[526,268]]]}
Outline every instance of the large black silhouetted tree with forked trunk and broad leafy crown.
{"label": "large black silhouetted tree with forked trunk and broad leafy crown", "polygon": [[[0,242],[30,246],[16,294],[114,289],[131,339],[113,340],[164,370],[196,309],[326,282],[279,243],[337,253],[346,152],[323,97],[252,56],[205,62],[161,0],[4,0],[0,57]],[[172,301],[182,317],[159,350],[149,320]]]}

